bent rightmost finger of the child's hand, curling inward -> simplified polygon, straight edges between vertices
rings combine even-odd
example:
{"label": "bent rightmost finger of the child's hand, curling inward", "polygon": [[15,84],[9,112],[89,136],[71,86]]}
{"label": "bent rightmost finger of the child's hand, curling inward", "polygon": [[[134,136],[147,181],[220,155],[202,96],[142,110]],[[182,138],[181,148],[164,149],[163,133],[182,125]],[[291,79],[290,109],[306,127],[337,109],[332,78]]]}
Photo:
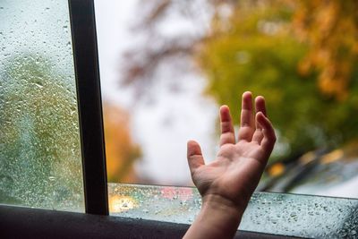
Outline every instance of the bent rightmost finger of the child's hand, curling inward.
{"label": "bent rightmost finger of the child's hand, curling inward", "polygon": [[269,155],[272,152],[276,142],[275,130],[272,124],[269,122],[268,118],[262,113],[258,113],[257,119],[262,127],[262,133],[264,136],[260,145],[262,149],[264,149],[265,154]]}

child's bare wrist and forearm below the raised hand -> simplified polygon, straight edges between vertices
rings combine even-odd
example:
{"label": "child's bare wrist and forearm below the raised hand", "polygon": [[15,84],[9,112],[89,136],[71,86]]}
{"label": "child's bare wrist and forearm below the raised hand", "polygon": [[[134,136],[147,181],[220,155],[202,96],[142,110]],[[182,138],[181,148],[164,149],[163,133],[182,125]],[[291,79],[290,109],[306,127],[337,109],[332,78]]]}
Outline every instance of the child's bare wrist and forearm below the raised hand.
{"label": "child's bare wrist and forearm below the raised hand", "polygon": [[199,215],[183,238],[233,238],[245,208],[210,195],[203,199]]}

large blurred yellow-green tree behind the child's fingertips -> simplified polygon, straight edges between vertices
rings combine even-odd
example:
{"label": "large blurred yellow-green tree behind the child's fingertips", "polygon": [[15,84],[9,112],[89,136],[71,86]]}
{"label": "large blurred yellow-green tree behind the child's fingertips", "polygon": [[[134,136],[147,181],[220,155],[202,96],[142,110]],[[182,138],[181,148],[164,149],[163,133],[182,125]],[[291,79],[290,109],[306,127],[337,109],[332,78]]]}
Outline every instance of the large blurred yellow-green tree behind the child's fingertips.
{"label": "large blurred yellow-green tree behind the child's fingertips", "polygon": [[[354,94],[347,93],[345,101],[339,101],[334,97],[338,91],[327,95],[328,88],[322,92],[316,86],[317,77],[322,86],[325,69],[302,72],[303,59],[313,57],[316,50],[294,34],[292,21],[299,5],[283,1],[240,3],[228,18],[214,19],[214,28],[202,43],[198,59],[208,75],[209,94],[234,108],[239,107],[238,92],[252,90],[264,95],[281,140],[290,146],[285,157],[336,147],[356,138],[358,128],[354,125],[358,122],[354,115],[358,107]],[[339,81],[336,87],[341,84],[341,90],[346,81],[351,81],[349,90],[356,92],[356,76],[354,73],[345,75],[345,80],[331,81]],[[345,93],[339,92],[338,96]]]}

